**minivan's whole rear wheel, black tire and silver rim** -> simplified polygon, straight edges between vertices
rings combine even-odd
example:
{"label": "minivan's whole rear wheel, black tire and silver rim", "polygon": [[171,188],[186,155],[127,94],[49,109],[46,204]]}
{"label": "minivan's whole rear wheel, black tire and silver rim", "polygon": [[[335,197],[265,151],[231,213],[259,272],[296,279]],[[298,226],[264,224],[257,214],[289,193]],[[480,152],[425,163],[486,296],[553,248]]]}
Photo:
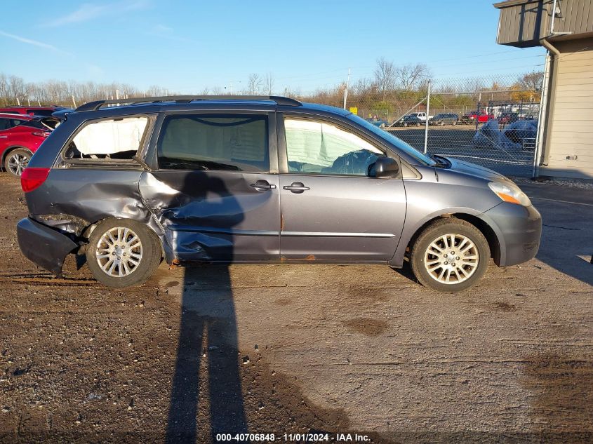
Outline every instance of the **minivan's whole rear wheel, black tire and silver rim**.
{"label": "minivan's whole rear wheel, black tire and silver rim", "polygon": [[100,283],[114,288],[145,283],[161,263],[156,234],[134,220],[109,219],[88,238],[86,262]]}

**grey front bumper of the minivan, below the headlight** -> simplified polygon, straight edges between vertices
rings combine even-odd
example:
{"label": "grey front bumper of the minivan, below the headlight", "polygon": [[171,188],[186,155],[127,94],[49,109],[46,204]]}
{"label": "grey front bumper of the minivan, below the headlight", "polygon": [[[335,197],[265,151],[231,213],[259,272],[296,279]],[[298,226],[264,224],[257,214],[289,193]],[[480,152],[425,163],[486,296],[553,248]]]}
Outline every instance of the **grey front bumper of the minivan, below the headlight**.
{"label": "grey front bumper of the minivan, below the headlight", "polygon": [[538,254],[542,217],[533,206],[502,202],[481,215],[493,227],[500,245],[500,267],[521,264]]}

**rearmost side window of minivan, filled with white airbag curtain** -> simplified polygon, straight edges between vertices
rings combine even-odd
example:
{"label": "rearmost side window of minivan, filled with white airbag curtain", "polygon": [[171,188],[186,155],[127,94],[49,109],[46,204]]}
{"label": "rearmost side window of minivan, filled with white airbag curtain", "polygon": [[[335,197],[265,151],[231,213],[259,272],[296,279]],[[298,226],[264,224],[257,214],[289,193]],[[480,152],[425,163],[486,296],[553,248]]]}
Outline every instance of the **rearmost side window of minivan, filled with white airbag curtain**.
{"label": "rearmost side window of minivan, filled with white airbag curtain", "polygon": [[74,136],[66,159],[132,159],[138,153],[148,118],[126,117],[88,123]]}

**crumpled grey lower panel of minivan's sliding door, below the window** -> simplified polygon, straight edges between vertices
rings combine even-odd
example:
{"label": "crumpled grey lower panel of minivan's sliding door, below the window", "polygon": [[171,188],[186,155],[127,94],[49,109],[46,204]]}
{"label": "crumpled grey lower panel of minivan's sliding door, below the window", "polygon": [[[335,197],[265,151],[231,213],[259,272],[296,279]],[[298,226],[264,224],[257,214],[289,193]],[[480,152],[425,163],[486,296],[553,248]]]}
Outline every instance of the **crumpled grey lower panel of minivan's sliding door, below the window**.
{"label": "crumpled grey lower panel of minivan's sliding door, below the window", "polygon": [[[251,186],[266,180],[275,189]],[[146,171],[140,191],[181,261],[278,260],[278,175]]]}

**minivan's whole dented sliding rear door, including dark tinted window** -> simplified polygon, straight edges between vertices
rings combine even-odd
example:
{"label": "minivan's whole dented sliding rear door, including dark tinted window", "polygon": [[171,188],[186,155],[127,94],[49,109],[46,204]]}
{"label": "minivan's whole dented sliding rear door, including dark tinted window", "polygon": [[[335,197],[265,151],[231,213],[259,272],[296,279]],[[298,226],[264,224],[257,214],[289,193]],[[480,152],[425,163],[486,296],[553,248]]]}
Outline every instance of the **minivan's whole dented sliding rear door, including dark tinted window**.
{"label": "minivan's whole dented sliding rear door, including dark tinted window", "polygon": [[142,175],[140,192],[176,258],[279,259],[279,180],[270,170],[271,157],[277,169],[270,119],[275,126],[267,113],[164,117],[156,142],[159,168]]}

